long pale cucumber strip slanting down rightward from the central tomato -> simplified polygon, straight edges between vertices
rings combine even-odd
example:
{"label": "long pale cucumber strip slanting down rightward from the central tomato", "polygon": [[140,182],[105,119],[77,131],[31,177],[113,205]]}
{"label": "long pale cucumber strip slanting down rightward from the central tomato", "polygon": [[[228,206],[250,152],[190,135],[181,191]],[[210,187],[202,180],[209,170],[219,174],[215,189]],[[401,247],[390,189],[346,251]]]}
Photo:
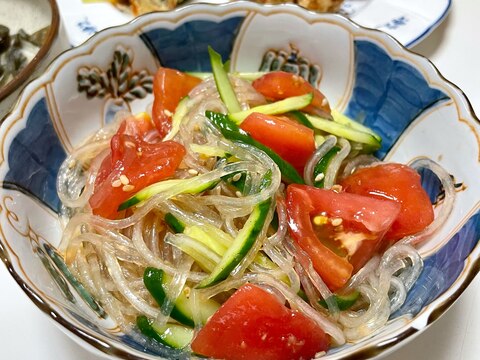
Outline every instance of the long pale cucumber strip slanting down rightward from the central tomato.
{"label": "long pale cucumber strip slanting down rightward from the central tomato", "polygon": [[350,126],[346,126],[332,120],[322,119],[318,116],[307,114],[305,114],[305,116],[318,130],[322,130],[327,133],[343,137],[347,140],[352,140],[362,144],[370,145],[375,150],[379,149],[381,146],[380,141],[378,141],[377,138],[370,133],[353,129]]}

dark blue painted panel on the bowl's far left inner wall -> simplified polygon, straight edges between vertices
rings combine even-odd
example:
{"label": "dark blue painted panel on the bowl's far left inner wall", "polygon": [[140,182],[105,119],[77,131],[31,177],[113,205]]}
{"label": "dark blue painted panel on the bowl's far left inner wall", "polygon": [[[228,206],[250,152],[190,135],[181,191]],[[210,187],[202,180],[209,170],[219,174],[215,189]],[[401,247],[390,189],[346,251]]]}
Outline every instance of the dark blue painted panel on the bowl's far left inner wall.
{"label": "dark blue painted panel on the bowl's far left inner wall", "polygon": [[9,170],[3,188],[33,195],[58,212],[57,173],[65,150],[58,139],[45,98],[40,99],[28,114],[25,129],[13,139],[8,149]]}

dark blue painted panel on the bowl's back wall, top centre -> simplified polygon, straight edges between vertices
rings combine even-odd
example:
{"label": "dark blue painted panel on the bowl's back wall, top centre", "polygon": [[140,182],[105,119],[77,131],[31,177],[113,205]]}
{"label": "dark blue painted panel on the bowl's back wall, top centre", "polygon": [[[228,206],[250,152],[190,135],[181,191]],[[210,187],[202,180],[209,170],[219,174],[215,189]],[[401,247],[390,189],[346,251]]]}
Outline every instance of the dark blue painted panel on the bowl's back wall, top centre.
{"label": "dark blue painted panel on the bowl's back wall, top centre", "polygon": [[156,28],[140,35],[160,63],[182,71],[210,71],[207,47],[228,59],[243,17],[213,22],[194,20],[177,28]]}

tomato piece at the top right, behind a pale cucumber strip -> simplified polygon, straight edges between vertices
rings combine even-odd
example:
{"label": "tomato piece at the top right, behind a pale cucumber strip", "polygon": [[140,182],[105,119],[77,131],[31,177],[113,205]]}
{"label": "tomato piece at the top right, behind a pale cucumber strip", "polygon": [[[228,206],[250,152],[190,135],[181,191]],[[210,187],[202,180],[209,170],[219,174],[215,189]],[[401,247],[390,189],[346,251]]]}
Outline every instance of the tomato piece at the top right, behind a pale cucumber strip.
{"label": "tomato piece at the top right, behind a pale cucumber strip", "polygon": [[303,110],[313,115],[331,117],[330,105],[325,95],[299,75],[285,71],[273,71],[258,78],[252,85],[255,90],[273,101],[313,93],[312,103]]}

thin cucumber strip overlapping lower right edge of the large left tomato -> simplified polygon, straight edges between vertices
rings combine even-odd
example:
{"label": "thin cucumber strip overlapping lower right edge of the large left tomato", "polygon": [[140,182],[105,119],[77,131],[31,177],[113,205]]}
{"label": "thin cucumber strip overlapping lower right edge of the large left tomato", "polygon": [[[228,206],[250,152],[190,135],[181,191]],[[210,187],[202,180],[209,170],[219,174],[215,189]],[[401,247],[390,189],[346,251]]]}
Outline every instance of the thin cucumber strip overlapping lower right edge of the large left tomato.
{"label": "thin cucumber strip overlapping lower right edge of the large left tomato", "polygon": [[[157,195],[166,190],[170,190],[172,188],[179,189],[180,187],[183,187],[183,189],[179,191],[180,194],[198,194],[202,191],[213,188],[219,182],[219,180],[212,180],[202,183],[201,179],[199,179],[200,176],[190,179],[172,179],[159,181],[155,184],[143,188],[131,198],[125,200],[118,207],[118,211],[128,209],[129,207],[148,200],[154,195]],[[200,182],[200,184],[198,182]]]}

